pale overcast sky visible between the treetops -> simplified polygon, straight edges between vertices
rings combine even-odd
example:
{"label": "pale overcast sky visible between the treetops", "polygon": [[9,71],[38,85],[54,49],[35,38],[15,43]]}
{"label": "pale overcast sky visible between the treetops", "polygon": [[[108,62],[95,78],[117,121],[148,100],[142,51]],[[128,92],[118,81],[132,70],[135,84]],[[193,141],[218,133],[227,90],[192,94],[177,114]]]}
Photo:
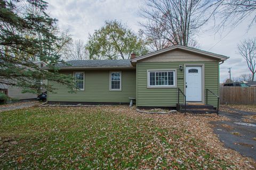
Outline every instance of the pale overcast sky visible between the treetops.
{"label": "pale overcast sky visible between the treetops", "polygon": [[[142,0],[50,0],[48,12],[58,19],[59,27],[69,29],[73,39],[87,41],[89,33],[102,27],[106,20],[118,20],[126,23],[135,32],[140,29],[138,15],[143,6]],[[222,35],[207,30],[199,33],[197,40],[202,50],[226,55],[229,58],[220,65],[220,81],[228,77],[228,67],[231,67],[231,77],[249,73],[246,62],[237,54],[237,44],[245,38],[256,37],[255,25],[247,31],[248,22],[244,21],[237,28],[224,31]],[[207,28],[210,25],[206,25]],[[205,30],[207,28],[202,28]]]}

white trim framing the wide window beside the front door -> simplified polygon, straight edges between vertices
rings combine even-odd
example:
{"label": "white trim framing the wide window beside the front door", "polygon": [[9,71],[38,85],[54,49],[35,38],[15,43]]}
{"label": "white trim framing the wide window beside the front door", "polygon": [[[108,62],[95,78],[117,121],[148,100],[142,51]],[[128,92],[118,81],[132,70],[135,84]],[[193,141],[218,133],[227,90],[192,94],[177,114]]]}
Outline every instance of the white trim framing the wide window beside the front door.
{"label": "white trim framing the wide window beside the front door", "polygon": [[[149,72],[174,72],[173,74],[173,85],[155,85],[150,86],[150,75]],[[147,70],[147,88],[176,88],[177,87],[177,69],[157,69]]]}

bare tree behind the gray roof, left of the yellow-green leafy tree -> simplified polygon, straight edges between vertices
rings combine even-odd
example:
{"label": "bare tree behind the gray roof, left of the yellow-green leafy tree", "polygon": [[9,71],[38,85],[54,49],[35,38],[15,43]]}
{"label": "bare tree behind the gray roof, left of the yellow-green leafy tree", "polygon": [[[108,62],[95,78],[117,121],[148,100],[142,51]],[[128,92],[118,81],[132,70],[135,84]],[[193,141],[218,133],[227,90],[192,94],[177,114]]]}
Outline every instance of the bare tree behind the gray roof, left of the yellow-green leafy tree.
{"label": "bare tree behind the gray roof, left of the yellow-green leafy tree", "polygon": [[62,56],[64,60],[89,60],[89,53],[81,39],[75,40],[74,43],[67,46]]}

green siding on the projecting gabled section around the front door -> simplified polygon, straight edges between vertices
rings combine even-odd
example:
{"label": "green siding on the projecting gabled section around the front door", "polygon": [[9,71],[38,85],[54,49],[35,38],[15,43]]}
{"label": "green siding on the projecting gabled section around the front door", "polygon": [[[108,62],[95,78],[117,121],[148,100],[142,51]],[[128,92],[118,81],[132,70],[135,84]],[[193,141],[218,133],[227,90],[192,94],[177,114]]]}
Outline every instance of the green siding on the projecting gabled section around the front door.
{"label": "green siding on the projecting gabled section around the front door", "polygon": [[[137,63],[137,106],[175,107],[178,103],[178,88],[184,91],[184,71],[179,65],[204,64],[205,89],[218,94],[219,71],[218,61],[212,62],[141,62]],[[147,88],[147,70],[177,69],[177,88]],[[209,95],[209,104],[217,107],[217,98]]]}

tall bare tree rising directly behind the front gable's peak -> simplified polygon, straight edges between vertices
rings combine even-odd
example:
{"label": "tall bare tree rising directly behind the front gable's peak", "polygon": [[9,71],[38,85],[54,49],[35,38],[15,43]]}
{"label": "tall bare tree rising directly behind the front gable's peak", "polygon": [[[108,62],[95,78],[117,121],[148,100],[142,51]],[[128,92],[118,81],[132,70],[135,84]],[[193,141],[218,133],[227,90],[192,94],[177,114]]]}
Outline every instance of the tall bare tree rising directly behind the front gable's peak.
{"label": "tall bare tree rising directly behind the front gable's peak", "polygon": [[210,0],[147,0],[146,7],[140,10],[147,21],[140,24],[147,35],[157,40],[153,41],[157,42],[155,48],[195,45],[194,36],[209,19],[205,9],[210,5]]}

